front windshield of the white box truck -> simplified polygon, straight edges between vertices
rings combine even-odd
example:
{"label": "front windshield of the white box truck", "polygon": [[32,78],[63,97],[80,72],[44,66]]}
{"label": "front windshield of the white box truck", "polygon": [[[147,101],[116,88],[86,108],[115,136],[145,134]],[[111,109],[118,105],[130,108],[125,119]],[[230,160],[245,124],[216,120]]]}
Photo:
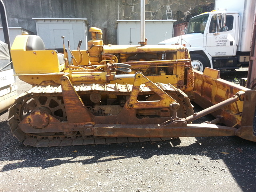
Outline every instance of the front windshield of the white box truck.
{"label": "front windshield of the white box truck", "polygon": [[204,34],[204,29],[206,27],[206,23],[208,20],[209,14],[199,15],[190,19],[188,23],[188,29],[186,30],[186,34],[190,33],[202,33]]}

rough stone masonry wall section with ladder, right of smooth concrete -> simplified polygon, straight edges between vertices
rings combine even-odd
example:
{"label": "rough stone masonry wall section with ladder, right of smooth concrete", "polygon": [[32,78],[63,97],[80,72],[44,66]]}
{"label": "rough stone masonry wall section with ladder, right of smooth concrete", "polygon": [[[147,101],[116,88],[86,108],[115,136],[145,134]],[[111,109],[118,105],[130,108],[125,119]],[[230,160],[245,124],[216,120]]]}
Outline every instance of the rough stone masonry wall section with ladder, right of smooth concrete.
{"label": "rough stone masonry wall section with ladder, right of smooth concrete", "polygon": [[[175,24],[188,22],[200,13],[214,9],[214,0],[145,0],[145,17],[148,20],[166,19],[166,10],[172,10]],[[140,0],[122,0],[119,14],[122,19],[140,19]]]}

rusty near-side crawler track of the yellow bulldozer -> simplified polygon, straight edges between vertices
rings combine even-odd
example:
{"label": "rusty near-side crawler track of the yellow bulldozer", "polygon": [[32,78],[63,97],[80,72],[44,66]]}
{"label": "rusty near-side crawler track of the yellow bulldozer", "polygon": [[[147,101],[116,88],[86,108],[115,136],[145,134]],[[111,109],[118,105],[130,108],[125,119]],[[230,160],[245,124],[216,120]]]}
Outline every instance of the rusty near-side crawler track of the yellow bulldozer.
{"label": "rusty near-side crawler track of the yellow bulldozer", "polygon": [[[183,92],[174,88],[171,84],[156,83],[165,92],[175,95],[180,98],[183,106],[189,109],[190,102]],[[131,92],[132,85],[120,85],[120,84],[90,84],[90,85],[80,85],[74,86],[78,94],[81,93],[95,93],[95,92],[105,92],[113,94],[127,94]],[[142,86],[140,92],[150,93],[150,89],[146,86]],[[129,93],[130,94],[130,93]],[[128,142],[155,142],[155,141],[165,141],[172,140],[174,138],[115,138],[115,137],[98,137],[98,136],[84,136],[80,132],[75,135],[64,134],[63,132],[56,133],[24,133],[19,128],[19,123],[24,119],[32,110],[33,106],[37,105],[38,97],[45,97],[46,101],[41,104],[40,107],[46,107],[50,105],[49,100],[54,100],[57,106],[54,106],[51,110],[54,114],[55,110],[64,111],[64,103],[62,98],[61,86],[34,86],[32,89],[21,94],[14,105],[9,109],[9,119],[8,123],[10,125],[11,131],[24,145],[35,146],[35,147],[53,147],[53,146],[75,146],[75,145],[95,145],[95,144],[114,144],[114,143],[128,143]],[[186,113],[186,109],[184,113]],[[54,115],[53,115],[54,116]],[[56,116],[61,121],[65,121],[65,113],[61,116]]]}

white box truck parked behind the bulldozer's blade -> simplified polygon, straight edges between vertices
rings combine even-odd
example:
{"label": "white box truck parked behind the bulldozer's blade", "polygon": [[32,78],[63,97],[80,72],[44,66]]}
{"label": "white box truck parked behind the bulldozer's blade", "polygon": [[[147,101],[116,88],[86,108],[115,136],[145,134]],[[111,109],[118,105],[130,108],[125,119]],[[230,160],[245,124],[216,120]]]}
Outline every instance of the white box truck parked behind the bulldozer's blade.
{"label": "white box truck parked behind the bulldozer's blade", "polygon": [[184,35],[159,44],[188,48],[192,66],[234,70],[249,64],[255,0],[215,0],[215,10],[194,16]]}

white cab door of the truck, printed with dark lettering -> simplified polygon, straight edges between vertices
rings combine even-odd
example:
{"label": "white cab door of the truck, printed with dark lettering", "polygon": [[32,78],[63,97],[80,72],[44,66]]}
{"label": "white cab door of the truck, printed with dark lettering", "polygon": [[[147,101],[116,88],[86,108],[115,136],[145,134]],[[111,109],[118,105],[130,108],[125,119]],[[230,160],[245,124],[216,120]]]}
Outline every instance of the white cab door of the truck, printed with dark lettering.
{"label": "white cab door of the truck, printed with dark lettering", "polygon": [[226,26],[220,28],[222,15],[212,15],[209,30],[206,34],[206,50],[214,56],[235,56],[238,38],[236,38],[236,16],[235,14],[226,15]]}

